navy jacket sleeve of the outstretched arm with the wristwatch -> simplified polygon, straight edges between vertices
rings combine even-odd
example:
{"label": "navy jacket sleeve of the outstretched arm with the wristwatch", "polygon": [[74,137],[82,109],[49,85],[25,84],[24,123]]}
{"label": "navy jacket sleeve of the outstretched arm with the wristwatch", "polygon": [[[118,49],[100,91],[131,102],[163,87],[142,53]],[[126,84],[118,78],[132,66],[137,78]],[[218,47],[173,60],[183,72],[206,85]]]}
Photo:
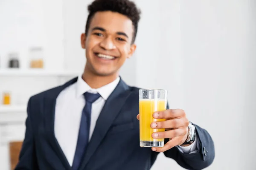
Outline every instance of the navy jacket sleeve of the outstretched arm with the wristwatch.
{"label": "navy jacket sleeve of the outstretched arm with the wristwatch", "polygon": [[[195,125],[195,124],[193,124]],[[209,133],[195,125],[199,148],[195,153],[182,153],[177,147],[164,152],[166,157],[174,159],[180,166],[188,170],[201,170],[212,164],[215,157],[214,144]],[[166,139],[168,142],[169,139]]]}

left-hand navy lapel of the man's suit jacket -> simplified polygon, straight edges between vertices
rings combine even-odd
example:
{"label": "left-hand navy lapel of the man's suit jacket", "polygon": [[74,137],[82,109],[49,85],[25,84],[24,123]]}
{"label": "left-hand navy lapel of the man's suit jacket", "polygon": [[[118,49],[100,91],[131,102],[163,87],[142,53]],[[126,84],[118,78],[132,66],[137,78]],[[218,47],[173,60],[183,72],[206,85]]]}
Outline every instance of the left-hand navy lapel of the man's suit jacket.
{"label": "left-hand navy lapel of the man's suit jacket", "polygon": [[49,94],[46,94],[46,96],[44,97],[44,114],[45,114],[44,127],[46,128],[47,134],[49,134],[48,140],[52,148],[55,149],[56,154],[58,155],[58,158],[61,160],[61,162],[63,162],[64,167],[67,170],[72,170],[72,169],[70,167],[70,164],[67,161],[66,156],[61,150],[61,147],[58,144],[58,141],[55,138],[55,133],[54,133],[55,105],[56,105],[56,99],[58,95],[61,93],[61,91],[64,90],[64,88],[75,83],[76,81],[77,81],[77,77],[74,79],[71,79],[69,82],[56,88],[55,90],[50,91]]}

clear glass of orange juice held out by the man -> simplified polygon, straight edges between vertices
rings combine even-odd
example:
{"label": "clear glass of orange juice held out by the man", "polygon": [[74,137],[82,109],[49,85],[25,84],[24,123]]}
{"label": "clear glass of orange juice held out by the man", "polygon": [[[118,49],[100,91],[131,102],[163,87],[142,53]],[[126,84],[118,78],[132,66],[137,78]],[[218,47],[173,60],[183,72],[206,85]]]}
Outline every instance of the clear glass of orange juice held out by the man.
{"label": "clear glass of orange juice held out by the man", "polygon": [[162,89],[140,89],[140,147],[163,147],[164,139],[152,138],[152,133],[163,132],[165,129],[152,129],[152,122],[164,121],[154,119],[153,113],[166,110],[167,91]]}

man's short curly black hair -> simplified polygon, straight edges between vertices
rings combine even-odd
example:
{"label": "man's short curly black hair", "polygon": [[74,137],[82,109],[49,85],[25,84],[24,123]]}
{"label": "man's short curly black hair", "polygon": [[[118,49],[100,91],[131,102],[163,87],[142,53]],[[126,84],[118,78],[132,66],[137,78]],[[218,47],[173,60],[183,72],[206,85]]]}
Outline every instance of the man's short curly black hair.
{"label": "man's short curly black hair", "polygon": [[93,18],[93,15],[99,11],[112,11],[118,12],[130,18],[134,26],[132,43],[135,41],[135,37],[138,29],[138,22],[140,20],[140,10],[137,8],[134,2],[130,0],[94,0],[88,6],[89,15],[85,26],[85,34],[87,35],[88,29]]}

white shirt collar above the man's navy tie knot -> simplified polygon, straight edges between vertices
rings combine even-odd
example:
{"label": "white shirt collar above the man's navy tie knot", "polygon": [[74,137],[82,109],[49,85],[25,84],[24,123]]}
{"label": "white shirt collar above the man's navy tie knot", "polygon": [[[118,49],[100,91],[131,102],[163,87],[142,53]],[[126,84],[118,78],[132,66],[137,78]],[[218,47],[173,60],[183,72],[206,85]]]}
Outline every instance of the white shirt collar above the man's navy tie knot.
{"label": "white shirt collar above the man's navy tie knot", "polygon": [[108,99],[108,96],[113,92],[116,88],[117,84],[119,83],[120,77],[117,77],[113,82],[104,85],[100,88],[94,89],[91,88],[83,79],[82,76],[79,76],[76,83],[76,97],[80,97],[85,92],[90,93],[99,93],[104,100]]}

